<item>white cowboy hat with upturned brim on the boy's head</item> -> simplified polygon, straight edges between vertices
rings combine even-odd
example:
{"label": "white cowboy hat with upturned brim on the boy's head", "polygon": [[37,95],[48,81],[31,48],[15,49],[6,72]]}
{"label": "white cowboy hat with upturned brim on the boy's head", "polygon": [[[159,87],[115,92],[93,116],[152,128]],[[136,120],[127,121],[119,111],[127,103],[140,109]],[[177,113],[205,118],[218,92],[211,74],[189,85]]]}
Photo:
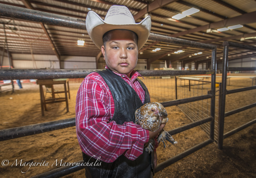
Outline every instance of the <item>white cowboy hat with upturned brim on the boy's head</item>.
{"label": "white cowboy hat with upturned brim on the boy's head", "polygon": [[105,20],[102,20],[93,11],[89,11],[86,17],[86,29],[94,44],[101,49],[102,36],[113,29],[126,29],[138,35],[138,50],[148,40],[151,29],[151,17],[147,16],[140,23],[135,23],[133,15],[125,6],[113,5],[109,8]]}

